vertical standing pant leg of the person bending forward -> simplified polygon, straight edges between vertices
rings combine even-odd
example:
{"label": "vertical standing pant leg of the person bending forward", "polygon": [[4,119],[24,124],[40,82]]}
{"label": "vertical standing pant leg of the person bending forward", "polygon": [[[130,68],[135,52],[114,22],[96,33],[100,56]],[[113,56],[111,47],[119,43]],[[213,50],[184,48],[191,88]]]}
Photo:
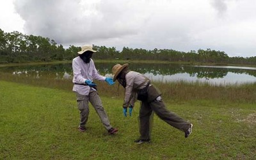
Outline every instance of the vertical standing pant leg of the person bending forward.
{"label": "vertical standing pant leg of the person bending forward", "polygon": [[140,107],[140,140],[150,139],[150,116],[152,109],[147,102],[141,102]]}

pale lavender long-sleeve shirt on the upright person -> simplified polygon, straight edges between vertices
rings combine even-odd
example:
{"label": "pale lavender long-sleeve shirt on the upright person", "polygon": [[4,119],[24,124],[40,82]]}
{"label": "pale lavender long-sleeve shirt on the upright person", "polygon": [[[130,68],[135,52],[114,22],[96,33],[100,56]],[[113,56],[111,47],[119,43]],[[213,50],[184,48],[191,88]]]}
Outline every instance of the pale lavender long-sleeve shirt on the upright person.
{"label": "pale lavender long-sleeve shirt on the upright person", "polygon": [[[85,84],[85,80],[97,79],[99,81],[105,81],[106,77],[101,76],[95,68],[94,62],[91,59],[89,63],[84,63],[84,61],[77,56],[72,61],[73,68],[73,83]],[[73,91],[81,95],[88,95],[90,92],[90,86],[83,86],[79,84],[74,84]]]}

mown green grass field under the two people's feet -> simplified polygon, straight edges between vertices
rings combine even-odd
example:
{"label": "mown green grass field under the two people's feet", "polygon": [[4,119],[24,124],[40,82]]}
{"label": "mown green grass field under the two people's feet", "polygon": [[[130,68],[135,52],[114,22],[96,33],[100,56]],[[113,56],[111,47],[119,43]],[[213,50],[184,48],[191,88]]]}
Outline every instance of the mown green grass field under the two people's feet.
{"label": "mown green grass field under the two people's feet", "polygon": [[101,96],[118,134],[107,134],[92,106],[88,130],[81,133],[76,97],[70,90],[0,81],[0,159],[256,158],[252,100],[166,100],[168,109],[194,124],[191,136],[184,138],[183,132],[154,116],[152,143],[138,145],[133,141],[139,136],[140,102],[125,118],[121,95]]}

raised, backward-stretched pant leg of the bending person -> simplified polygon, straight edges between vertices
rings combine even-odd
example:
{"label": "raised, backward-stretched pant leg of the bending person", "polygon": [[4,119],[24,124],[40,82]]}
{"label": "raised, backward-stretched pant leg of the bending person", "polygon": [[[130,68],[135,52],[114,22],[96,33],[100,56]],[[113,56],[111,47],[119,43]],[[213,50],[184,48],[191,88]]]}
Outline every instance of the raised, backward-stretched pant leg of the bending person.
{"label": "raised, backward-stretched pant leg of the bending person", "polygon": [[164,120],[164,122],[172,125],[180,131],[188,131],[191,123],[187,122],[175,113],[172,113],[172,111],[168,111],[161,97],[153,102],[150,102],[150,107],[153,109],[156,115],[159,116],[159,118]]}

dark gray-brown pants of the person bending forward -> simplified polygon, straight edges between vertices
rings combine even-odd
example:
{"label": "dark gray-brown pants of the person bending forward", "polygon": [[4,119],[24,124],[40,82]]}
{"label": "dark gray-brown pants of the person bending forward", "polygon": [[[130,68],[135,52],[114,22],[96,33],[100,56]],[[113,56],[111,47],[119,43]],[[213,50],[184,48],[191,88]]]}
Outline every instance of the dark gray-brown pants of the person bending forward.
{"label": "dark gray-brown pants of the person bending forward", "polygon": [[166,106],[164,105],[161,97],[157,97],[157,99],[152,102],[141,102],[140,108],[140,139],[150,139],[150,126],[153,121],[150,120],[150,116],[152,116],[152,111],[156,113],[161,120],[166,122],[167,124],[172,125],[179,129],[180,131],[185,132],[190,123],[186,120],[180,118],[180,116],[175,115],[171,111],[168,111]]}

